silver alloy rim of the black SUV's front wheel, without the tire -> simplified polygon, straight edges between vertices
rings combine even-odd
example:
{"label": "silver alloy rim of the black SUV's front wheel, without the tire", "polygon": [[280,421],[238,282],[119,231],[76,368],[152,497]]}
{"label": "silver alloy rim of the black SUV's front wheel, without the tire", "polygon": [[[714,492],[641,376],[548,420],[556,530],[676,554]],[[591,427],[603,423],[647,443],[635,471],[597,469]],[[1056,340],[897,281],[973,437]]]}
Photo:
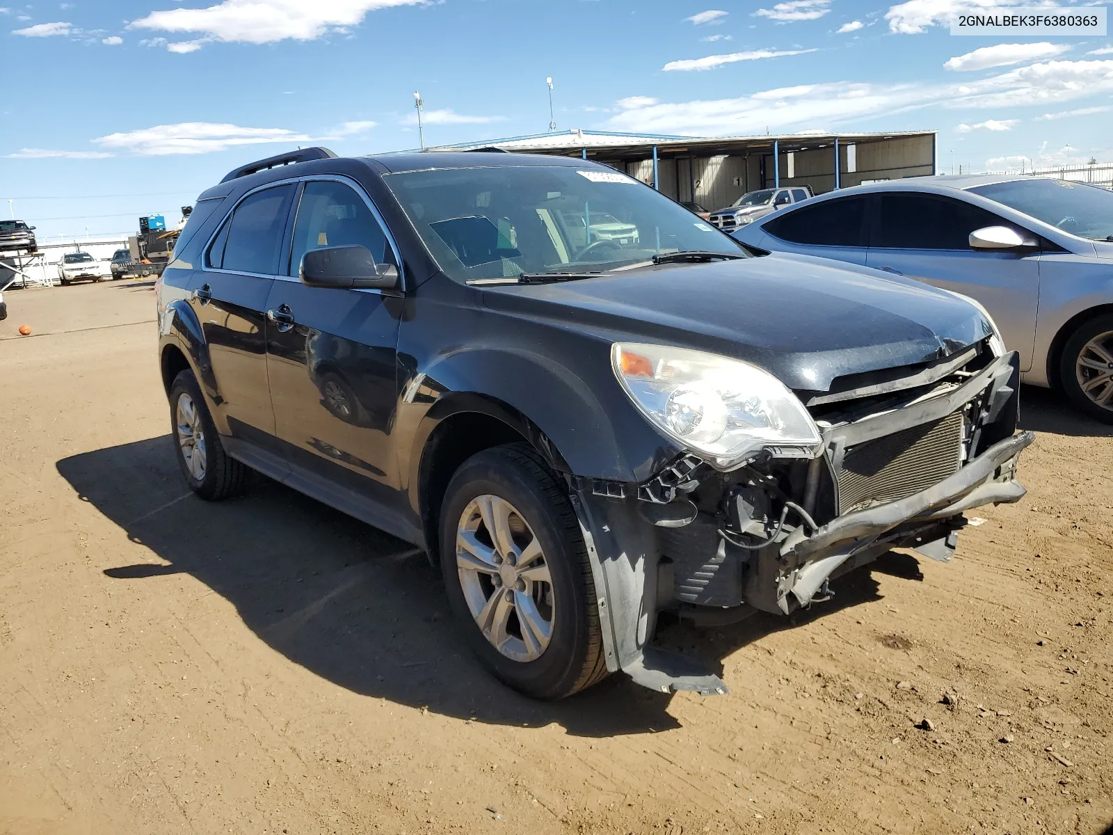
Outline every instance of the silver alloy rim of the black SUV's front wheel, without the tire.
{"label": "silver alloy rim of the black SUV's front wheel, without the tire", "polygon": [[549,564],[521,513],[498,495],[479,495],[456,527],[456,570],[467,608],[495,649],[533,661],[549,647],[555,608]]}

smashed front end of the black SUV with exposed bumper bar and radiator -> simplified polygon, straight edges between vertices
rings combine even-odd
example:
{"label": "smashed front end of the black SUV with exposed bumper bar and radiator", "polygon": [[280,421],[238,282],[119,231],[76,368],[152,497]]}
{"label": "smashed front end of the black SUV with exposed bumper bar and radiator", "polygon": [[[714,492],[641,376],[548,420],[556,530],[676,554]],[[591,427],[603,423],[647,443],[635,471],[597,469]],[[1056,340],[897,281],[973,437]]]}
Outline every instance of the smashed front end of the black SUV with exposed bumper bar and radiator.
{"label": "smashed front end of the black SUV with exposed bumper bar and radiator", "polygon": [[949,560],[965,511],[1024,495],[1018,381],[1016,354],[986,338],[798,393],[814,446],[767,443],[727,468],[687,453],[641,484],[573,478],[608,667],[656,690],[725,692],[698,659],[652,646],[660,612],[788,615],[892,548]]}

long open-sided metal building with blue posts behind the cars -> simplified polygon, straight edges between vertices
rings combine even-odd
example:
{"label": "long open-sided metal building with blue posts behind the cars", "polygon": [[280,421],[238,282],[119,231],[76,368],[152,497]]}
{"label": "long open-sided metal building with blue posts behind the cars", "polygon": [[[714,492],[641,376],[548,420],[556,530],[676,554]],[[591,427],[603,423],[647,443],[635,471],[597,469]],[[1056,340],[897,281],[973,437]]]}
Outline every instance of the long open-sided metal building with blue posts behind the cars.
{"label": "long open-sided metal building with blue posts behind the cars", "polygon": [[936,173],[934,130],[706,138],[578,129],[430,150],[490,147],[605,163],[643,183],[656,184],[673,199],[698,203],[709,210],[729,206],[756,188],[807,185],[823,194],[861,183]]}

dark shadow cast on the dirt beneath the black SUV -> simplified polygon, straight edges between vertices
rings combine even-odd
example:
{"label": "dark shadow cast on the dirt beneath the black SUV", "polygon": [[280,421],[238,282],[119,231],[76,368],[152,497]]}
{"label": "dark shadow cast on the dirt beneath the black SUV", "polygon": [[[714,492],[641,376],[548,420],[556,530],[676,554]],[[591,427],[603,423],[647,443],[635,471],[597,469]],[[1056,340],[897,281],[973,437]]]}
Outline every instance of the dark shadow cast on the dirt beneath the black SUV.
{"label": "dark shadow cast on the dirt beneath the black SUV", "polygon": [[[410,544],[257,477],[243,499],[194,497],[169,435],[62,459],[58,472],[130,540],[166,564],[105,570],[145,593],[157,578],[189,573],[232,602],[262,640],[292,661],[355,692],[444,715],[516,726],[556,723],[577,736],[679,727],[671,696],[612,676],[559,703],[513,692],[480,668],[452,622],[440,572]],[[920,579],[910,557],[871,567]],[[834,600],[792,619],[757,615],[712,628],[680,621],[661,641],[721,659],[764,635],[878,598],[869,571],[833,583]]]}

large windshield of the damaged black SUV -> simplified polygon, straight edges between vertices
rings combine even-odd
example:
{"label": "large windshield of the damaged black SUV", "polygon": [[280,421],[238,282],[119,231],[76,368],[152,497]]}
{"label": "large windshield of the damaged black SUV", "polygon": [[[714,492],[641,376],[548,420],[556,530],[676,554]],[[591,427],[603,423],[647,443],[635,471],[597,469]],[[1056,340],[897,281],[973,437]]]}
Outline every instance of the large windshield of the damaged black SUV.
{"label": "large windshield of the damaged black SUV", "polygon": [[457,281],[605,271],[678,250],[745,255],[727,235],[618,171],[499,166],[384,180]]}

